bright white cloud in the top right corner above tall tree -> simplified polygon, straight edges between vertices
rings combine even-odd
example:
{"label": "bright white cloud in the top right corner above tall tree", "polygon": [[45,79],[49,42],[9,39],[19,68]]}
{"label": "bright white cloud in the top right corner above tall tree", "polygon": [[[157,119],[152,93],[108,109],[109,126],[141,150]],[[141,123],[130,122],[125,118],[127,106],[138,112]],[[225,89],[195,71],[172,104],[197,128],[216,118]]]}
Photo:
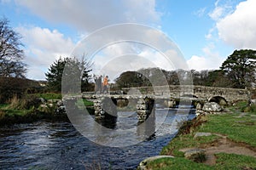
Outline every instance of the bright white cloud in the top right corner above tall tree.
{"label": "bright white cloud in the top right corner above tall tree", "polygon": [[256,49],[256,1],[247,0],[232,14],[218,20],[218,36],[234,48]]}

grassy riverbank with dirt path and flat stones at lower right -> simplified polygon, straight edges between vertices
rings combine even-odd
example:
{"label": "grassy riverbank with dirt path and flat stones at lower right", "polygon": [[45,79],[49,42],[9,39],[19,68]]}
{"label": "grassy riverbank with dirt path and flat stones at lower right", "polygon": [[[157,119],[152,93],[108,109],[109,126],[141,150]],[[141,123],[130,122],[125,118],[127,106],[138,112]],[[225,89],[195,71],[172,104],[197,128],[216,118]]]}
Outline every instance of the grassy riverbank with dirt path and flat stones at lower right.
{"label": "grassy riverbank with dirt path and flat stones at lower right", "polygon": [[[183,122],[177,136],[145,169],[256,169],[256,112],[238,104]],[[250,111],[250,112],[241,112]]]}

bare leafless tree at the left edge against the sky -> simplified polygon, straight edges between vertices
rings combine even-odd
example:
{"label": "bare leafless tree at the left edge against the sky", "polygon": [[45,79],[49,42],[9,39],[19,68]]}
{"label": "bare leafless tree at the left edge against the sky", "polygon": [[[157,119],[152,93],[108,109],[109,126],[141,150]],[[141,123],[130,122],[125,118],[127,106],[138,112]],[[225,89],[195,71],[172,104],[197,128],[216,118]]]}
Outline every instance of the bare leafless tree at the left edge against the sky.
{"label": "bare leafless tree at the left edge against the sky", "polygon": [[20,34],[9,26],[9,20],[0,20],[0,77],[25,77],[20,38]]}

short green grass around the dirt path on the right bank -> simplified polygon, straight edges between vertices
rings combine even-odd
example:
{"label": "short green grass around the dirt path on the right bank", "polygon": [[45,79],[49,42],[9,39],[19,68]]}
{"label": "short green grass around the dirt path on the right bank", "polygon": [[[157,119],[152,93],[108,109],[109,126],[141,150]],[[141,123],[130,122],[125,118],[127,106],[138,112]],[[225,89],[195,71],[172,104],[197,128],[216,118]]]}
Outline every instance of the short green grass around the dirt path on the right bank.
{"label": "short green grass around the dirt path on the right bank", "polygon": [[[148,169],[256,169],[256,159],[252,156],[241,156],[236,154],[218,153],[217,162],[213,166],[202,163],[196,163],[184,158],[184,153],[179,151],[183,148],[204,148],[218,141],[217,135],[194,138],[196,132],[219,133],[227,136],[234,142],[247,144],[247,146],[256,148],[256,117],[255,111],[251,110],[241,114],[241,108],[246,106],[241,102],[236,106],[230,107],[233,113],[220,115],[208,115],[203,119],[204,122],[199,127],[193,127],[190,133],[179,134],[176,138],[167,144],[160,155],[172,155],[175,158],[163,158],[148,162]],[[251,107],[254,107],[253,105]]]}

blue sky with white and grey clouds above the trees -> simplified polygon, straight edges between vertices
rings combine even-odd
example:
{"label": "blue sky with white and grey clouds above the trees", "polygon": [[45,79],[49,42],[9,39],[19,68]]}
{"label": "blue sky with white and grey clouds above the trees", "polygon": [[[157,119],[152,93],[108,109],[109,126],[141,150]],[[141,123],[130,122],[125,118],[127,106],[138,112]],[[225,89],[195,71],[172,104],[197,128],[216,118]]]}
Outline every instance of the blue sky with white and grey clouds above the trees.
{"label": "blue sky with white and grey clouds above the trees", "polygon": [[159,47],[156,42],[165,35],[181,52],[163,52],[139,42],[110,43],[112,29],[107,37],[98,39],[108,44],[96,51],[92,62],[96,74],[114,79],[121,71],[141,65],[177,69],[178,64],[169,64],[164,54],[182,57],[189,69],[218,69],[234,50],[256,49],[255,8],[256,0],[0,0],[0,17],[7,18],[22,36],[26,77],[35,80],[44,80],[49,65],[78,51],[81,43],[99,35],[106,26],[150,26],[153,30],[145,31],[150,34],[125,29],[123,36]]}

